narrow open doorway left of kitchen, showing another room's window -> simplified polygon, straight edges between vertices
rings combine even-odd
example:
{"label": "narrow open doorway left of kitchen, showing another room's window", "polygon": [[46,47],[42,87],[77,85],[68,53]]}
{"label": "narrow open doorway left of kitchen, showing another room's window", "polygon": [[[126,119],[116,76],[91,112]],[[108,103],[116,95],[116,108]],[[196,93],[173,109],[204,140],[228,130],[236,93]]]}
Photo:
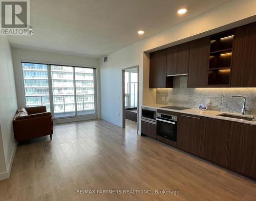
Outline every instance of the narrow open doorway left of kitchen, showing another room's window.
{"label": "narrow open doorway left of kitchen, showing another room's window", "polygon": [[138,131],[139,119],[139,66],[122,69],[123,111],[122,127],[126,125]]}

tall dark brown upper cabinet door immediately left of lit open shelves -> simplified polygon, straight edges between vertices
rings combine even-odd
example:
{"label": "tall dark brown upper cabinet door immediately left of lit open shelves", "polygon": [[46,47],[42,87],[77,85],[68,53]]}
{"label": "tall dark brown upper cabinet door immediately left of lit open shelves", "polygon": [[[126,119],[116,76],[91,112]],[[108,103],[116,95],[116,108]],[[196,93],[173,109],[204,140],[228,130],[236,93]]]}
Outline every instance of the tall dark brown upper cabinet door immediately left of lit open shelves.
{"label": "tall dark brown upper cabinet door immediately left of lit open shelves", "polygon": [[210,54],[210,37],[190,42],[187,87],[206,87]]}

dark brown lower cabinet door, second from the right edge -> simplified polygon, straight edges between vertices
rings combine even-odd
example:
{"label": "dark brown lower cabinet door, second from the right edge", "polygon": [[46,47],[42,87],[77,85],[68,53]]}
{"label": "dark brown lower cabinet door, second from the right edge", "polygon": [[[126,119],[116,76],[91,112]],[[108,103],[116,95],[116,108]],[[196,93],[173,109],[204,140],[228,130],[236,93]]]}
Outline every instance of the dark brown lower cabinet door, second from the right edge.
{"label": "dark brown lower cabinet door, second from the right edge", "polygon": [[227,166],[230,121],[206,120],[203,158],[221,166]]}

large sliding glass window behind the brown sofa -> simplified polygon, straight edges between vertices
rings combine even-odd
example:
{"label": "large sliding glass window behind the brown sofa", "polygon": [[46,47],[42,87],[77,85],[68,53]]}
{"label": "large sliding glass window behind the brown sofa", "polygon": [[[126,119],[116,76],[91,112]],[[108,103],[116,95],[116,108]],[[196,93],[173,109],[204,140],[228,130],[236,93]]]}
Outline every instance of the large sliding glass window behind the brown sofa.
{"label": "large sliding glass window behind the brown sofa", "polygon": [[37,63],[22,67],[27,107],[46,105],[54,118],[95,114],[95,69]]}

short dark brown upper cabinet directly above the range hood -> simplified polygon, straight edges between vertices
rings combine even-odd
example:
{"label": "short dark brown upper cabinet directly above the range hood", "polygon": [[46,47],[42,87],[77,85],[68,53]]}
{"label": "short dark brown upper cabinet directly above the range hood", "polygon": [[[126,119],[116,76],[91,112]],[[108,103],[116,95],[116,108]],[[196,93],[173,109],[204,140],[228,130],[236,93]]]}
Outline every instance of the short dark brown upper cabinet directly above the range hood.
{"label": "short dark brown upper cabinet directly above the range hood", "polygon": [[166,75],[188,73],[189,42],[167,48]]}

